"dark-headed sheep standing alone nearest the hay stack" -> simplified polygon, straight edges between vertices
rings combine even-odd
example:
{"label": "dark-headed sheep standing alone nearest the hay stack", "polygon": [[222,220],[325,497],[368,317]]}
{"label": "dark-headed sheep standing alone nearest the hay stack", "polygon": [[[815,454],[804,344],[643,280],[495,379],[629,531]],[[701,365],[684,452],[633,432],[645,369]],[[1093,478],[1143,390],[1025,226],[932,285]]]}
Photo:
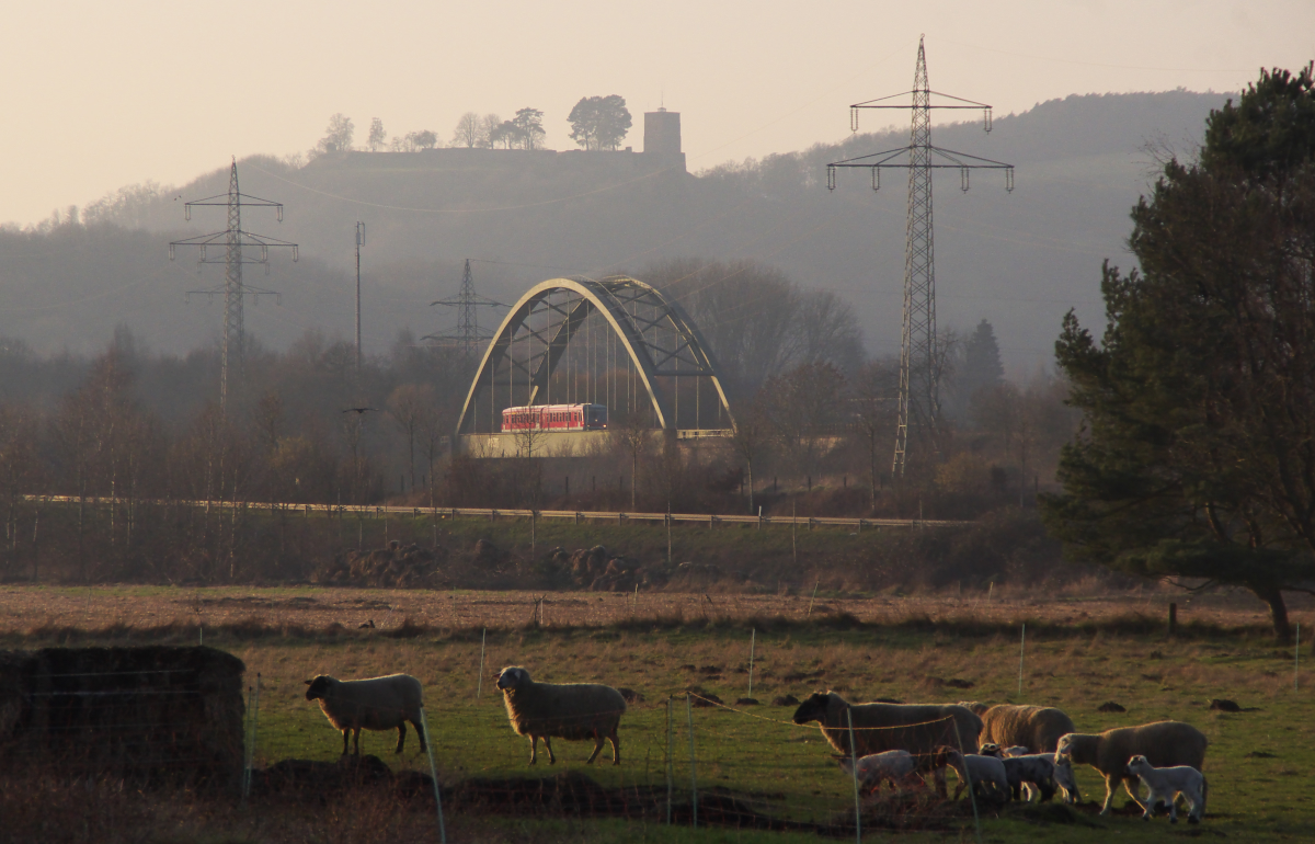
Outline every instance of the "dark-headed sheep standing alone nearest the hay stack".
{"label": "dark-headed sheep standing alone nearest the hay stack", "polygon": [[338,730],[342,730],[342,755],[347,755],[347,738],[356,734],[356,756],[360,756],[362,730],[397,728],[397,749],[406,741],[406,722],[416,727],[419,749],[425,749],[425,727],[419,710],[425,706],[425,690],[410,674],[388,674],[370,680],[334,680],[320,674],[308,680],[306,699],[320,701],[320,709]]}

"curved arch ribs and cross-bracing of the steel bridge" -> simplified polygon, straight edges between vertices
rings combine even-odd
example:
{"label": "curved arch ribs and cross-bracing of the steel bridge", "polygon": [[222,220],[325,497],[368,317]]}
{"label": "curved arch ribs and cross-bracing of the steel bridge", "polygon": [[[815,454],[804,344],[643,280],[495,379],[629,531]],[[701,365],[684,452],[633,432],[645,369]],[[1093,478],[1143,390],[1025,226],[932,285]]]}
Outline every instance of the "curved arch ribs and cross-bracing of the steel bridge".
{"label": "curved arch ribs and cross-bracing of the steel bridge", "polygon": [[[554,301],[556,296],[565,302]],[[717,363],[707,351],[698,326],[677,302],[667,300],[656,288],[627,276],[611,276],[601,280],[551,279],[530,288],[510,308],[484,350],[455,433],[473,433],[483,390],[494,390],[501,385],[508,385],[510,390],[517,373],[525,377],[515,388],[525,389],[525,404],[540,404],[539,398],[569,350],[571,339],[593,314],[605,321],[619,347],[629,355],[652,405],[659,429],[673,430],[677,423],[665,396],[658,389],[659,377],[709,379],[721,409],[734,425]],[[540,329],[531,325],[531,318],[537,316],[546,317],[546,325]],[[512,354],[515,343],[530,346],[523,362]],[[535,343],[538,350],[534,348]],[[500,369],[510,381],[497,383]],[[489,402],[492,408],[492,392]]]}

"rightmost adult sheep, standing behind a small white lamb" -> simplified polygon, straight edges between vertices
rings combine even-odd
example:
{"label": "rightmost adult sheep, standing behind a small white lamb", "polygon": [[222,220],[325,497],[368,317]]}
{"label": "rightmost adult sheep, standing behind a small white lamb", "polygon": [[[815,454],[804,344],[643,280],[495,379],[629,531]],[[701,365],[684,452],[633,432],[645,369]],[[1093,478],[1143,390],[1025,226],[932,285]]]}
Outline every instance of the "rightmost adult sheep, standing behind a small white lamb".
{"label": "rightmost adult sheep, standing behind a small white lamb", "polygon": [[[1197,770],[1205,766],[1206,744],[1205,734],[1191,724],[1181,720],[1160,720],[1140,727],[1118,727],[1106,730],[1102,734],[1070,732],[1060,738],[1055,749],[1055,761],[1061,756],[1068,756],[1074,765],[1091,765],[1105,774],[1105,806],[1101,814],[1109,814],[1110,803],[1114,801],[1114,791],[1123,784],[1128,797],[1137,799],[1132,793],[1135,777],[1128,774],[1127,760],[1134,756],[1145,756],[1147,760],[1160,768],[1174,765],[1190,765]],[[1073,799],[1081,799],[1077,791]],[[1140,801],[1137,802],[1140,806]]]}

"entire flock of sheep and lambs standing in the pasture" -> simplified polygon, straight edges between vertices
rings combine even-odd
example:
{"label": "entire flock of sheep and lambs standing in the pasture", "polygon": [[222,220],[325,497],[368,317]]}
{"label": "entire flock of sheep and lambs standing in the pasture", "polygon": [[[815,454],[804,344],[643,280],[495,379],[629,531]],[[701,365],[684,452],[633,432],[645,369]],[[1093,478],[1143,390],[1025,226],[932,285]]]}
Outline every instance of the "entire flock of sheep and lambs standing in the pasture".
{"label": "entire flock of sheep and lambs standing in the pasture", "polygon": [[[360,755],[362,730],[397,730],[396,752],[401,753],[406,722],[416,727],[421,751],[426,748],[423,690],[414,677],[389,674],[345,681],[318,676],[306,685],[306,699],[318,701],[333,726],[342,731],[343,755],[352,732]],[[611,762],[621,764],[617,730],[626,701],[617,689],[600,684],[535,682],[519,667],[504,668],[497,688],[512,728],[530,739],[531,765],[538,761],[539,739],[548,764],[556,762],[552,739],[593,740],[588,762],[610,741]],[[1028,801],[1038,794],[1048,801],[1056,791],[1063,793],[1065,802],[1077,803],[1081,794],[1073,765],[1091,765],[1105,777],[1102,815],[1110,811],[1120,784],[1145,819],[1164,803],[1170,823],[1177,823],[1178,797],[1186,801],[1189,823],[1199,823],[1206,811],[1207,786],[1201,773],[1206,736],[1177,720],[1085,734],[1077,732],[1073,719],[1053,707],[849,703],[834,692],[810,695],[793,720],[817,722],[826,740],[842,753],[836,756],[840,766],[868,793],[880,791],[888,782],[898,787],[917,777],[945,794],[944,772],[949,768],[959,778],[956,799],[970,786],[974,799],[997,806],[1023,799],[1024,794]],[[1137,781],[1149,791],[1145,799],[1136,794]]]}

